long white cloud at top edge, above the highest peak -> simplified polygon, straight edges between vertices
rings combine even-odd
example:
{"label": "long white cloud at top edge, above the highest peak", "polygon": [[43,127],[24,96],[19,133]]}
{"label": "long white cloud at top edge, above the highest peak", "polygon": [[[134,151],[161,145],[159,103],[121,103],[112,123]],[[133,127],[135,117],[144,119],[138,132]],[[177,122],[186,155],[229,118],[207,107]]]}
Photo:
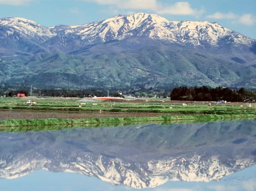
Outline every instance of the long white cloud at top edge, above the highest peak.
{"label": "long white cloud at top edge, above the highest peak", "polygon": [[112,5],[121,9],[149,9],[159,14],[168,15],[201,15],[204,11],[193,9],[189,2],[162,4],[158,0],[85,0],[100,5]]}

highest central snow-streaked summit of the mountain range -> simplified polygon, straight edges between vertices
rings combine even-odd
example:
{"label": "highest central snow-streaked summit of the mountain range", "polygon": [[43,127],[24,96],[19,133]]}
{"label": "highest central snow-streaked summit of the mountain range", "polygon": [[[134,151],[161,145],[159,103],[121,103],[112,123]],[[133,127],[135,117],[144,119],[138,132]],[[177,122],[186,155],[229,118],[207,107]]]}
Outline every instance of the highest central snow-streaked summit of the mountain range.
{"label": "highest central snow-streaked summit of the mountain range", "polygon": [[[94,22],[86,25],[70,26],[65,34],[72,33],[80,36],[88,43],[104,43],[109,40],[122,40],[130,36],[147,36],[153,39],[161,39],[163,26],[169,21],[158,15],[137,13],[134,15],[117,15],[101,22]],[[162,28],[162,29],[159,29]],[[72,30],[70,30],[72,29]],[[164,33],[168,33],[165,32]],[[168,37],[172,36],[169,34]]]}

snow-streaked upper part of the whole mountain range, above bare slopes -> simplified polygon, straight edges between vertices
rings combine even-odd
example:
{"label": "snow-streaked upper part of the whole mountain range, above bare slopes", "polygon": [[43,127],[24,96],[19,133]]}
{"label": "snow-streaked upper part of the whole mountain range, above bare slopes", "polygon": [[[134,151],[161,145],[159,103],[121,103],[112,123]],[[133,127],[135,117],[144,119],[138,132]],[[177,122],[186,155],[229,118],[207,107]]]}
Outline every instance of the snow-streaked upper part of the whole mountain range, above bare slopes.
{"label": "snow-streaked upper part of the whole mountain range, above bare slopes", "polygon": [[[210,44],[217,46],[220,40],[236,44],[251,44],[252,39],[231,31],[217,23],[207,21],[168,21],[167,19],[146,13],[117,15],[101,22],[84,25],[57,25],[43,27],[24,18],[3,18],[0,25],[10,27],[7,35],[18,31],[27,38],[39,36],[47,40],[53,36],[76,36],[87,44],[105,43],[110,40],[123,40],[128,37],[148,37],[171,43],[191,44],[194,46]],[[18,37],[18,36],[17,36]]]}

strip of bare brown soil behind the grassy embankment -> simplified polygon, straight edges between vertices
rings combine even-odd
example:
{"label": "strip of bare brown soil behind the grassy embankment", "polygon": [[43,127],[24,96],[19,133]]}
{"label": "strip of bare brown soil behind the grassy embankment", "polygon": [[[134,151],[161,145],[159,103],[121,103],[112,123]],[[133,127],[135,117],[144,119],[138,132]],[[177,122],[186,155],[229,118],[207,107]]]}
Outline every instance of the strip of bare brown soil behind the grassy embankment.
{"label": "strip of bare brown soil behind the grassy embankment", "polygon": [[40,119],[40,118],[106,118],[106,117],[153,117],[165,113],[118,113],[98,111],[28,111],[28,110],[0,110],[0,120],[7,119]]}

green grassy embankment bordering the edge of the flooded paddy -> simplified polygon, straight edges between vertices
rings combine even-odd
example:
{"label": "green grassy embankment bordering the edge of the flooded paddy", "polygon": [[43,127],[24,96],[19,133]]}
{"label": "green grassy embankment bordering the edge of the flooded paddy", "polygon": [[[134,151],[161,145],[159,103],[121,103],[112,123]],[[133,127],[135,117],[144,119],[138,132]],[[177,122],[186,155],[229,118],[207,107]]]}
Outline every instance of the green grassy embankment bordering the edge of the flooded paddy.
{"label": "green grassy embankment bordering the edge of the flooded paddy", "polygon": [[[143,123],[171,123],[183,120],[194,121],[211,121],[214,119],[241,119],[241,118],[256,118],[255,114],[238,114],[238,115],[163,115],[156,117],[126,117],[126,118],[85,118],[85,119],[18,119],[0,121],[0,130],[2,131],[36,131],[36,130],[51,130],[47,126],[57,125],[53,129],[61,129],[64,127],[74,126],[112,126],[112,124],[143,124]],[[32,127],[32,128],[29,128]],[[44,127],[44,128],[41,128]],[[23,130],[22,130],[23,129]],[[26,129],[26,130],[25,130]]]}

